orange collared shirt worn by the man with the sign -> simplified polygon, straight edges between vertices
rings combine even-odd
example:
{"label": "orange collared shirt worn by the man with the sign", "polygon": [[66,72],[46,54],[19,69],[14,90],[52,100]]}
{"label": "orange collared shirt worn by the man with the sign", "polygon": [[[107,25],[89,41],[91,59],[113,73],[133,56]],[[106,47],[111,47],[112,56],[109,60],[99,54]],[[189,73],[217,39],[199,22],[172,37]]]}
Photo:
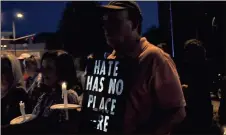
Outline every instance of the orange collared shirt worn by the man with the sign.
{"label": "orange collared shirt worn by the man with the sign", "polygon": [[[124,119],[125,133],[150,133],[151,117],[161,117],[156,114],[155,108],[171,109],[186,105],[181,83],[175,63],[170,55],[160,48],[141,38],[140,46],[136,52],[130,54],[138,60],[138,72],[135,74],[135,83],[126,101]],[[108,59],[116,59],[117,53],[113,51]],[[133,65],[131,65],[133,66]],[[155,107],[154,107],[155,106]],[[139,131],[138,131],[139,130]]]}

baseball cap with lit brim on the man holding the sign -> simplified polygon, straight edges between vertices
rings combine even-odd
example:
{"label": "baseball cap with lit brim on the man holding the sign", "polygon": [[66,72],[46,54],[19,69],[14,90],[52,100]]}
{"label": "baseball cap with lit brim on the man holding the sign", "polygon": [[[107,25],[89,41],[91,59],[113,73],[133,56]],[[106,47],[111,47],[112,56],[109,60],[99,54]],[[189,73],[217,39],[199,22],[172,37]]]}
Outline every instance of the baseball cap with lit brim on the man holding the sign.
{"label": "baseball cap with lit brim on the man holding the sign", "polygon": [[137,12],[142,18],[139,5],[135,1],[111,1],[107,5],[101,6],[106,10],[131,10]]}

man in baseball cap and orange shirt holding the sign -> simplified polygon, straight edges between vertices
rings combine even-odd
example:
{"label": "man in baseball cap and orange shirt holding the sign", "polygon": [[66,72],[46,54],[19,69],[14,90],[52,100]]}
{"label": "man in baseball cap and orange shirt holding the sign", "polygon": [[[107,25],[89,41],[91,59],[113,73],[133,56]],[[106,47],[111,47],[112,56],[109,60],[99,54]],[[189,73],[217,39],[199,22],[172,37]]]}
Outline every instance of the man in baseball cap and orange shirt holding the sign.
{"label": "man in baseball cap and orange shirt holding the sign", "polygon": [[[103,6],[104,32],[114,51],[108,59],[138,61],[136,83],[126,102],[124,133],[169,134],[185,117],[185,100],[174,62],[141,37],[142,13],[136,2]],[[134,74],[134,73],[131,73]]]}

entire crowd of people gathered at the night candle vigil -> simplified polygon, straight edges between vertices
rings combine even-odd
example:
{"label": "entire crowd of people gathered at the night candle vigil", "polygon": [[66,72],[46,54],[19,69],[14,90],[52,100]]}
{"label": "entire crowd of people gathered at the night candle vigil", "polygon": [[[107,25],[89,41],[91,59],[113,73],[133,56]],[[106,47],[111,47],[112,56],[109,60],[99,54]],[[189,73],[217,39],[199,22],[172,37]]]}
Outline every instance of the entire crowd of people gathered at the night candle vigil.
{"label": "entire crowd of people gathered at the night candle vigil", "polygon": [[[101,7],[104,11],[104,31],[112,53],[103,59],[133,59],[138,71],[130,73],[134,83],[126,99],[123,127],[120,133],[150,133],[165,135],[221,134],[214,126],[210,97],[206,50],[199,40],[188,40],[184,46],[184,64],[176,64],[161,46],[141,37],[142,14],[131,1],[113,1]],[[95,55],[87,56],[95,59]],[[177,71],[178,70],[178,71]],[[41,59],[30,55],[16,58],[1,54],[1,129],[3,134],[66,134],[90,133],[81,126],[81,110],[51,110],[62,104],[63,82],[67,82],[68,103],[82,105],[86,72],[79,71],[75,58],[64,50],[48,50]],[[222,98],[222,104],[225,102]],[[20,101],[34,119],[10,125],[21,115]],[[221,106],[221,116],[226,113]],[[224,117],[225,118],[225,117]],[[222,125],[225,120],[222,120]],[[116,126],[117,127],[117,126]],[[93,133],[93,130],[92,130]]]}

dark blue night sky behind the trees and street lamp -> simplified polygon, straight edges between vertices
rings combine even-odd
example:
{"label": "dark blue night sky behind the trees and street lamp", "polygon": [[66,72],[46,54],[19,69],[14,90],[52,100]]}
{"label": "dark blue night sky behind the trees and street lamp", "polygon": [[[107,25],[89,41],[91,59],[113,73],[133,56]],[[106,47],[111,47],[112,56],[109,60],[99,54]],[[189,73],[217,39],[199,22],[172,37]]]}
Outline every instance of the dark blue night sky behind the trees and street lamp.
{"label": "dark blue night sky behind the trees and street lamp", "polygon": [[[12,31],[12,20],[15,20],[17,36],[39,32],[54,32],[66,2],[27,1],[1,2],[1,31]],[[107,2],[102,2],[106,4]],[[152,25],[158,26],[158,7],[155,1],[139,1],[142,10],[143,32]],[[15,19],[16,12],[24,14],[23,19]]]}

